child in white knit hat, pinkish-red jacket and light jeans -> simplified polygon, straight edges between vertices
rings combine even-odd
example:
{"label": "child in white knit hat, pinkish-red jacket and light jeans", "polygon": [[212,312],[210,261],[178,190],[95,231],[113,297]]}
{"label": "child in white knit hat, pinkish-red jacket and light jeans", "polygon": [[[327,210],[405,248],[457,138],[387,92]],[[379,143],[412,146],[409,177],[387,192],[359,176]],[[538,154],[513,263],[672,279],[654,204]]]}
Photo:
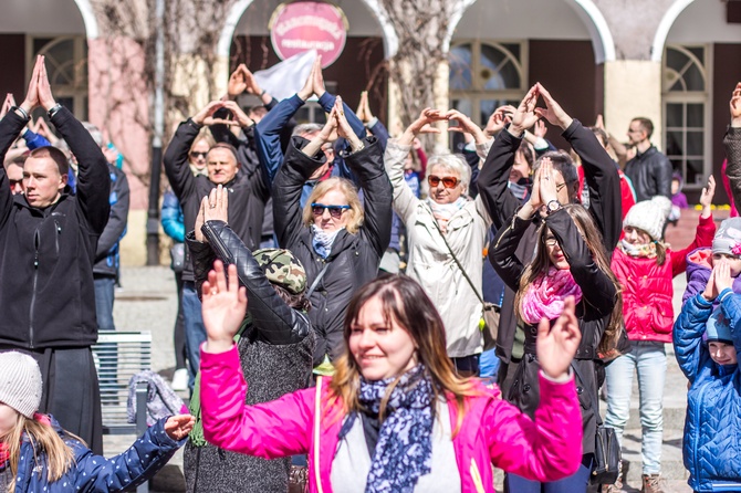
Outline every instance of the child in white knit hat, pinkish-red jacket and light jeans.
{"label": "child in white knit hat, pinkish-red jacket and light jeans", "polygon": [[[607,365],[607,415],[605,426],[614,428],[620,444],[630,413],[633,374],[638,375],[643,490],[664,492],[659,481],[664,436],[662,400],[667,373],[665,344],[671,343],[674,310],[672,279],[687,269],[687,252],[710,245],[716,224],[710,204],[716,190],[712,177],[702,190],[702,213],[695,241],[683,250],[669,250],[661,242],[664,224],[671,207],[666,197],[636,203],[623,221],[624,238],[613,254],[613,272],[623,287],[625,329],[632,343],[629,352]],[[618,478],[604,492],[619,492]]]}

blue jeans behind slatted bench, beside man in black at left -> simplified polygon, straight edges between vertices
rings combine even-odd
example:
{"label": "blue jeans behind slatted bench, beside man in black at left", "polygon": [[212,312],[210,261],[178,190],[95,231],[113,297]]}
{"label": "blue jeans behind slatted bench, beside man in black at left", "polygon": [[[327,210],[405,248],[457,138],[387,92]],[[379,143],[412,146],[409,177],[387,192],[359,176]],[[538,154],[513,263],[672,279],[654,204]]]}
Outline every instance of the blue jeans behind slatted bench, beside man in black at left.
{"label": "blue jeans behind slatted bench, beside man in black at left", "polygon": [[[95,289],[95,317],[100,332],[116,329],[113,323],[113,300],[115,297],[116,277],[96,276],[93,281]],[[118,355],[115,344],[101,344],[95,350],[100,361],[100,385],[106,396],[117,391]]]}

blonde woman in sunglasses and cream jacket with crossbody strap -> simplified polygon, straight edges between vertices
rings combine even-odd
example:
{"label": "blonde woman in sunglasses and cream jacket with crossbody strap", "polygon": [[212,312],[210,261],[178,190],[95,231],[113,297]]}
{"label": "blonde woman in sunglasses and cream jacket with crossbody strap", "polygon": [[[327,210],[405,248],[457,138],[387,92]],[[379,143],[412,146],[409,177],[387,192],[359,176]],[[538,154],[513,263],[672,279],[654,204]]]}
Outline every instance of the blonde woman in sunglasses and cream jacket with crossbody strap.
{"label": "blonde woman in sunglasses and cream jacket with crossbody strap", "polygon": [[[456,370],[477,375],[483,349],[479,328],[482,252],[491,219],[481,199],[471,200],[467,195],[471,168],[460,156],[443,154],[428,159],[426,200],[417,198],[404,179],[415,137],[439,134],[431,124],[449,117],[438,109],[425,109],[401,137],[388,141],[384,161],[394,187],[394,210],[407,229],[407,275],[421,284],[440,312],[448,357]],[[490,143],[480,129],[474,138],[477,153],[484,158]]]}

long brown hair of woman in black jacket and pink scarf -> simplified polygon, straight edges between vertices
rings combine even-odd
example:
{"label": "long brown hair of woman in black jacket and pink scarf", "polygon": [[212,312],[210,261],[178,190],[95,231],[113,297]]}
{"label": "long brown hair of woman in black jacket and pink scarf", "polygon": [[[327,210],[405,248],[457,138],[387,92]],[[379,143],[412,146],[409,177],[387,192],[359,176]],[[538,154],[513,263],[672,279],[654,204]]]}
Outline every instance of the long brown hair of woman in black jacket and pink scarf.
{"label": "long brown hair of woman in black jacket and pink scarf", "polygon": [[[576,228],[582,233],[589,252],[592,252],[592,258],[597,263],[597,268],[609,277],[615,286],[615,306],[613,307],[609,323],[605,328],[605,333],[599,340],[599,347],[597,348],[599,353],[606,353],[607,349],[615,346],[620,334],[623,325],[623,290],[619,281],[609,268],[607,252],[605,252],[605,246],[602,242],[602,234],[594,223],[592,216],[589,216],[589,212],[587,212],[584,206],[580,203],[567,203],[563,206],[563,208],[568,216],[571,216],[574,224],[576,224]],[[530,287],[530,285],[541,275],[547,275],[549,269],[552,265],[547,248],[545,246],[547,232],[547,227],[545,223],[542,223],[538,230],[538,249],[535,258],[528,264],[520,277],[520,289],[514,296],[514,311],[520,319],[522,319],[522,298],[524,297],[528,287]]]}

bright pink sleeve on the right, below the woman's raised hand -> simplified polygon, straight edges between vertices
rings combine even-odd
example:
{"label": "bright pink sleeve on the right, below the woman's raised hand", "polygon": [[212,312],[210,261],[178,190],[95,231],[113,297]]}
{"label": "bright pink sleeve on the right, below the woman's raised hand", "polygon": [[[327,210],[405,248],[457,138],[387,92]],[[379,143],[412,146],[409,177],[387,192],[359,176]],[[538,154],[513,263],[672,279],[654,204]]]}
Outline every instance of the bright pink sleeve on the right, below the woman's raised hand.
{"label": "bright pink sleeve on the right, below the woman's raised hand", "polygon": [[555,384],[539,375],[541,401],[531,420],[513,405],[494,400],[484,413],[494,466],[549,482],[573,474],[582,463],[582,411],[574,378]]}

